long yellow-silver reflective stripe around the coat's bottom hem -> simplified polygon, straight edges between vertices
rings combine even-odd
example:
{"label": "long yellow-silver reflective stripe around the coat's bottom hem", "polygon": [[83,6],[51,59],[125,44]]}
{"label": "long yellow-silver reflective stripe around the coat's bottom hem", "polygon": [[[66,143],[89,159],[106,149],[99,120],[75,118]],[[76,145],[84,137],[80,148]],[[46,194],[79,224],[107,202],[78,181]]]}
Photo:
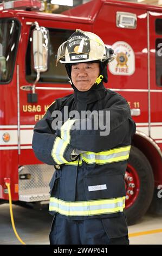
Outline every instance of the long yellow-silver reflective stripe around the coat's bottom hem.
{"label": "long yellow-silver reflective stripe around the coat's bottom hem", "polygon": [[125,197],[100,199],[81,202],[66,202],[55,197],[50,198],[49,211],[59,212],[66,216],[92,216],[123,212]]}

